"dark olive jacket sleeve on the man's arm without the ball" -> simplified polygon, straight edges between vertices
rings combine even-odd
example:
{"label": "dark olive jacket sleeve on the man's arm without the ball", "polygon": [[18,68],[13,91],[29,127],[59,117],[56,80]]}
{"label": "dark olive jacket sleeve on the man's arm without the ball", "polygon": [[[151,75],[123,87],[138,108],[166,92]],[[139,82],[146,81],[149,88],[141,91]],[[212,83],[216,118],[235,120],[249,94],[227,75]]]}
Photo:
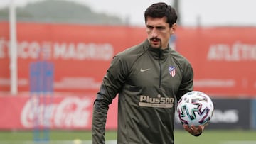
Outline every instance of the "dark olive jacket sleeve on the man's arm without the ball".
{"label": "dark olive jacket sleeve on the man's arm without the ball", "polygon": [[100,92],[93,106],[92,114],[92,143],[105,143],[105,124],[107,111],[112,100],[117,96],[126,79],[124,63],[120,57],[114,57],[110,68],[107,70]]}

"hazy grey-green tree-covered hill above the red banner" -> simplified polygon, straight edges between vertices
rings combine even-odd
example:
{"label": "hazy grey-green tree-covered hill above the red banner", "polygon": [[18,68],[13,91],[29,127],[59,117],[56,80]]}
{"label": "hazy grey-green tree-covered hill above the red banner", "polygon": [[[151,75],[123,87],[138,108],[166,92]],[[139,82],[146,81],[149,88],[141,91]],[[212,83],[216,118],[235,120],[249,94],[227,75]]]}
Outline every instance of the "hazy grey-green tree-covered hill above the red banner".
{"label": "hazy grey-green tree-covered hill above the red banner", "polygon": [[[96,25],[124,25],[117,16],[95,13],[90,7],[71,1],[45,0],[16,9],[17,21],[41,23],[80,23]],[[0,20],[8,20],[9,9],[0,9]]]}

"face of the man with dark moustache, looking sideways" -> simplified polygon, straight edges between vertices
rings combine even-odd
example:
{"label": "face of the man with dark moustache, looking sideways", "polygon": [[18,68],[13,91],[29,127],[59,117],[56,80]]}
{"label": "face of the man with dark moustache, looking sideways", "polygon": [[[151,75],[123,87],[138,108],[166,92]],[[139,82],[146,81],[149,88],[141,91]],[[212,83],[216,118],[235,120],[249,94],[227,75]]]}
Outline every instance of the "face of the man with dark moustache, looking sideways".
{"label": "face of the man with dark moustache, looking sideways", "polygon": [[167,48],[167,45],[169,44],[169,38],[171,34],[174,34],[175,30],[176,23],[170,27],[169,23],[166,23],[166,17],[147,17],[146,33],[152,48]]}

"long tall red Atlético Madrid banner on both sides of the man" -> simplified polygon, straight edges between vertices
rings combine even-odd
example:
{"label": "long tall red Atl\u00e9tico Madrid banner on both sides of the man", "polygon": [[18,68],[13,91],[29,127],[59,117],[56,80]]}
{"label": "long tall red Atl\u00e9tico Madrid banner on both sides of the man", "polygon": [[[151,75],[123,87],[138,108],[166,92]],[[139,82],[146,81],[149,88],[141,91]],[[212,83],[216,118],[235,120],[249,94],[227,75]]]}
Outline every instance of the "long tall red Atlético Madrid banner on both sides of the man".
{"label": "long tall red Atl\u00e9tico Madrid banner on both sides of the man", "polygon": [[[144,28],[17,23],[18,92],[30,90],[31,62],[54,64],[54,92],[96,93],[112,57],[146,39]],[[195,89],[256,96],[256,28],[178,27],[170,44],[187,57]],[[0,91],[10,90],[9,24],[0,23]]]}

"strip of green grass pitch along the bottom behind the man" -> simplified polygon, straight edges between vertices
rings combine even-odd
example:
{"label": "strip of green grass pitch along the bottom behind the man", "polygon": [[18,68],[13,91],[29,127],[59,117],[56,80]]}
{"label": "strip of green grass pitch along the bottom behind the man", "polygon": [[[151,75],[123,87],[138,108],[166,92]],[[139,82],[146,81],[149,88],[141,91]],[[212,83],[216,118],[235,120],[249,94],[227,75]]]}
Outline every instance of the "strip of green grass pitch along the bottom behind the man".
{"label": "strip of green grass pitch along the bottom behind the man", "polygon": [[[252,144],[256,143],[256,131],[243,130],[205,130],[199,137],[194,137],[186,131],[176,130],[175,144]],[[60,141],[74,144],[75,139],[81,140],[80,144],[90,143],[90,131],[50,131],[50,143]],[[116,131],[107,131],[106,140],[116,140]],[[0,143],[32,143],[32,131],[0,131]]]}

